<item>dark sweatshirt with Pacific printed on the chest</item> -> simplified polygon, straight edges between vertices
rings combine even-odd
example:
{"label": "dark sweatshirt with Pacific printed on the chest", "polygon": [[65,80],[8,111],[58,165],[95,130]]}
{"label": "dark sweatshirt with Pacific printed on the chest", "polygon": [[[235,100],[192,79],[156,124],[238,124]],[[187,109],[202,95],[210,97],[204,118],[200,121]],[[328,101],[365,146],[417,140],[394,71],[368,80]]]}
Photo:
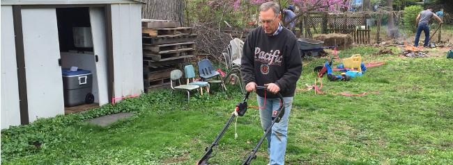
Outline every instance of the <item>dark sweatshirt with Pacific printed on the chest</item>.
{"label": "dark sweatshirt with Pacific printed on the chest", "polygon": [[[302,59],[298,41],[291,31],[283,28],[277,35],[269,36],[262,27],[254,28],[244,42],[240,72],[245,84],[275,83],[284,97],[294,96],[295,84],[302,72]],[[263,90],[256,94],[264,97]],[[277,98],[270,92],[267,98]]]}

